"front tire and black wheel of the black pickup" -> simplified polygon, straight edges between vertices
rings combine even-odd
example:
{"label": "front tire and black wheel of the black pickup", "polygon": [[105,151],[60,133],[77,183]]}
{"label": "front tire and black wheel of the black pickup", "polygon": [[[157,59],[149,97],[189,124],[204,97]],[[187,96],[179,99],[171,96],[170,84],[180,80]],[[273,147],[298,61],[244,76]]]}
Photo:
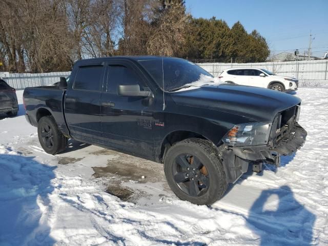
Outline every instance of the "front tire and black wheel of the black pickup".
{"label": "front tire and black wheel of the black pickup", "polygon": [[208,140],[177,142],[165,156],[164,172],[177,197],[198,205],[214,203],[228,188],[218,151]]}

